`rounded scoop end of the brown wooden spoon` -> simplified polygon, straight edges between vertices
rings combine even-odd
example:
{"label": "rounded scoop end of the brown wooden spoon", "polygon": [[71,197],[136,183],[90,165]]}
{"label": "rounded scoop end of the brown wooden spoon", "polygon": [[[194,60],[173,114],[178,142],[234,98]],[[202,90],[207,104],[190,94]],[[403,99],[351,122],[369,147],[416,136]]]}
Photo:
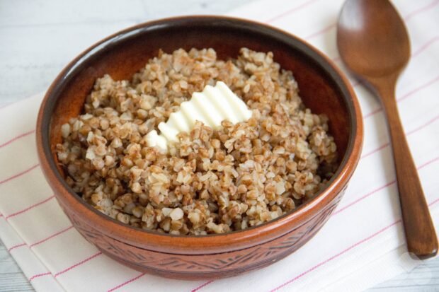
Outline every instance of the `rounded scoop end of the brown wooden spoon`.
{"label": "rounded scoop end of the brown wooden spoon", "polygon": [[409,35],[387,0],[346,1],[337,37],[340,54],[360,76],[387,76],[409,63]]}

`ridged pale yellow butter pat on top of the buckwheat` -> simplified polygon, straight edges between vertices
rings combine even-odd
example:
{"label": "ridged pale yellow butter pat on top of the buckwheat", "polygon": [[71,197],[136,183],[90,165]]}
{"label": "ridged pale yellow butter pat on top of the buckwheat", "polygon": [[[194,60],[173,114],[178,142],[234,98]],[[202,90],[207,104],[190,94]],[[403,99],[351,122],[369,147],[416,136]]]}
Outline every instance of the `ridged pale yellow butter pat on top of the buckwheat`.
{"label": "ridged pale yellow butter pat on top of the buckwheat", "polygon": [[171,143],[178,141],[181,132],[190,132],[196,121],[203,122],[212,129],[220,129],[225,119],[233,124],[246,121],[251,117],[251,110],[241,98],[227,85],[218,81],[215,87],[207,85],[203,92],[195,92],[190,100],[181,103],[180,109],[169,115],[169,119],[159,124],[160,134],[152,130],[146,136],[150,147],[168,151]]}

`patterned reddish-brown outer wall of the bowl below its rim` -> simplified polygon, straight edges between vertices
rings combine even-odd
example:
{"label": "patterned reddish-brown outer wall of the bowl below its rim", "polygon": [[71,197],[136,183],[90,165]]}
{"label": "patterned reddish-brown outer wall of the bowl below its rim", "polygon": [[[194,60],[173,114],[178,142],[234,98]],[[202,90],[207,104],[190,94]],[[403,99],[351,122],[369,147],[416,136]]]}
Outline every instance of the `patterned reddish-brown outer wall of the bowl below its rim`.
{"label": "patterned reddish-brown outer wall of the bowl below its rim", "polygon": [[91,227],[73,212],[67,211],[66,214],[84,238],[121,264],[148,274],[173,279],[217,279],[266,267],[290,255],[307,243],[326,223],[345,190],[346,188],[317,216],[280,238],[263,245],[216,255],[178,255],[144,250],[114,238],[102,236],[99,230]]}

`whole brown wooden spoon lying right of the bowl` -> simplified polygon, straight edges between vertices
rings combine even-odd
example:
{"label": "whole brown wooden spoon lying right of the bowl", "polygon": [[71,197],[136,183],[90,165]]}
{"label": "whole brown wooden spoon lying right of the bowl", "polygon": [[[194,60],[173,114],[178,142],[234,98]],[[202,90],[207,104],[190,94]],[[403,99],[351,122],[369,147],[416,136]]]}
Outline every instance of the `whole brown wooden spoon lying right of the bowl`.
{"label": "whole brown wooden spoon lying right of the bowl", "polygon": [[395,98],[397,79],[410,59],[404,22],[387,0],[348,0],[338,19],[337,45],[346,66],[380,96],[387,115],[407,248],[421,259],[434,257],[438,238]]}

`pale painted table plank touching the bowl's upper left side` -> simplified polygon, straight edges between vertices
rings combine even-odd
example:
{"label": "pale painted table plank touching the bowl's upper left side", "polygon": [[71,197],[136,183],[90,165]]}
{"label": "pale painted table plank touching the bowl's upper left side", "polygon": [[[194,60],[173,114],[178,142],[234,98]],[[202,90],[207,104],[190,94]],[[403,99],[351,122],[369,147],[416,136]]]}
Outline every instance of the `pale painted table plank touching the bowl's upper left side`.
{"label": "pale painted table plank touching the bowl's upper left side", "polygon": [[0,100],[41,92],[77,54],[133,21],[0,28]]}

